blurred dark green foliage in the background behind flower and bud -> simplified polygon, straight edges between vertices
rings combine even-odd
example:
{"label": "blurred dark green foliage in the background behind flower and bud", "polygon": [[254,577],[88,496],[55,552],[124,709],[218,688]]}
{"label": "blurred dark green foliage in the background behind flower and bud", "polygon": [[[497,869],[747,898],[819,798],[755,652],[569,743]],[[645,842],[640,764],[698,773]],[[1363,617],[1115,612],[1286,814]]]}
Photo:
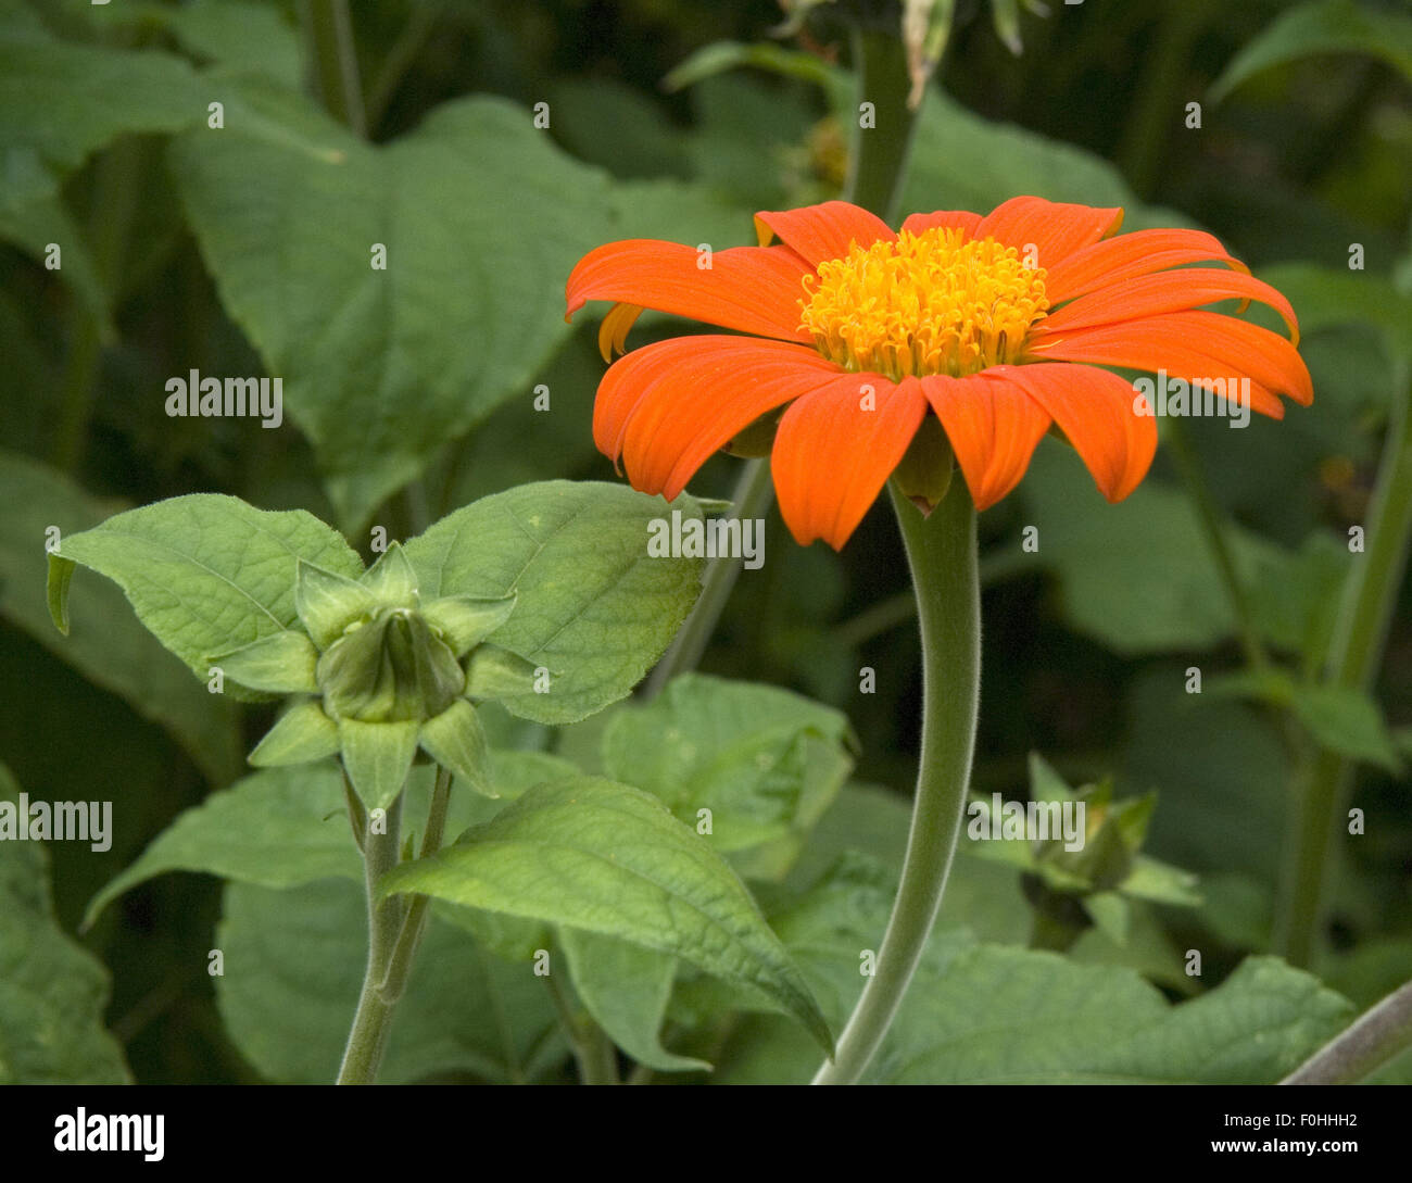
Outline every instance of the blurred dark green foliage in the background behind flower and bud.
{"label": "blurred dark green foliage in the background behind flower and bud", "polygon": [[[836,196],[844,176],[854,97],[827,4],[774,40],[775,0],[352,7],[367,143],[309,97],[294,3],[0,0],[0,754],[31,795],[113,799],[119,819],[107,854],[51,850],[69,933],[176,813],[240,775],[268,713],[201,692],[96,579],[75,610],[88,630],[54,632],[47,525],[223,491],[311,510],[367,553],[374,524],[407,536],[520,481],[613,480],[589,431],[597,318],[562,323],[572,263],[614,237],[753,241],[755,209]],[[1196,421],[1183,439],[1230,522],[1258,642],[1296,673],[1319,672],[1358,562],[1347,532],[1367,522],[1408,398],[1408,20],[1371,0],[1087,0],[1045,17],[959,0],[905,189],[907,212],[1032,192],[1124,205],[1127,229],[1202,226],[1289,295],[1315,405],[1240,432]],[[1005,44],[1017,32],[1019,54]],[[208,126],[210,102],[223,130]],[[537,103],[548,130],[532,126]],[[45,267],[55,241],[61,270]],[[391,295],[370,287],[374,241],[390,250]],[[1351,244],[1365,270],[1350,270]],[[633,340],[669,332],[681,326],[647,316]],[[282,374],[285,426],[169,419],[164,383],[192,368]],[[532,407],[539,384],[549,412]],[[1182,443],[1169,428],[1166,443]],[[1019,491],[984,515],[974,789],[1027,796],[1038,751],[1067,783],[1111,775],[1120,798],[1156,791],[1145,850],[1195,872],[1202,902],[1134,898],[1117,929],[1090,909],[1070,951],[1178,997],[1272,947],[1293,713],[1315,744],[1357,761],[1367,833],[1341,844],[1312,968],[1364,1007],[1412,975],[1406,589],[1371,697],[1299,716],[1289,695],[1272,709],[1211,693],[1243,668],[1243,645],[1175,455],[1163,446],[1148,483],[1108,508],[1045,440]],[[693,491],[729,496],[737,466],[713,460]],[[1035,553],[1019,546],[1025,525],[1039,529]],[[887,860],[919,716],[895,527],[878,507],[843,555],[795,546],[778,517],[768,538],[702,669],[847,714],[873,788],[849,791],[853,813],[827,815],[822,841]],[[875,693],[858,692],[864,666]],[[1186,693],[1192,666],[1202,697]],[[590,720],[555,743],[592,752],[599,730]],[[1019,872],[962,867],[949,918],[1024,944]],[[265,889],[240,891],[226,925],[271,909]],[[112,974],[106,1021],[136,1079],[251,1080],[253,1060],[270,1063],[241,1056],[217,1015],[205,967],[220,913],[215,881],[168,875],[83,935]],[[806,916],[782,923],[808,930]],[[1200,984],[1182,973],[1187,949],[1204,953]],[[974,963],[976,990],[986,973],[1004,980],[1004,959]],[[741,1039],[730,1079],[786,1055],[750,1025]]]}

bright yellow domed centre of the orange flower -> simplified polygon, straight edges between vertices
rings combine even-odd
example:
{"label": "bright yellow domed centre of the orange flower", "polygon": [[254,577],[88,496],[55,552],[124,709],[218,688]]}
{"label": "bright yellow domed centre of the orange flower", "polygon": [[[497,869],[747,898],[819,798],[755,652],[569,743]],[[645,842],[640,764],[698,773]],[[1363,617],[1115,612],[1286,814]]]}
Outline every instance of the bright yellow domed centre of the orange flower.
{"label": "bright yellow domed centre of the orange flower", "polygon": [[933,229],[870,247],[805,275],[801,328],[849,370],[891,378],[964,377],[1018,361],[1029,328],[1049,309],[1045,271],[994,239],[963,241]]}

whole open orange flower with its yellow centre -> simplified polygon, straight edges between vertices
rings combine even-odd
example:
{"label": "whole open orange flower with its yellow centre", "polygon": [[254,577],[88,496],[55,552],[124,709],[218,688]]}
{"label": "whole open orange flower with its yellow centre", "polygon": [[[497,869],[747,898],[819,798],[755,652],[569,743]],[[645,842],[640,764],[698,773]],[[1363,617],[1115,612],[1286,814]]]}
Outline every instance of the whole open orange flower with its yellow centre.
{"label": "whole open orange flower with its yellow centre", "polygon": [[[801,545],[840,548],[928,412],[984,510],[1019,483],[1051,426],[1110,501],[1142,480],[1156,449],[1152,408],[1099,366],[1204,387],[1248,380],[1252,409],[1275,419],[1278,395],[1313,400],[1278,291],[1210,234],[1108,237],[1121,222],[1121,209],[1012,198],[984,217],[912,215],[894,233],[864,209],[825,202],[758,213],[758,247],[714,256],[609,243],[566,289],[568,316],[590,299],[614,302],[599,332],[604,360],[644,308],[753,336],[678,337],[620,359],[599,387],[594,442],[635,488],[672,498],[712,453],[788,404],[771,452],[779,511]],[[1233,298],[1274,308],[1292,340],[1196,311]]]}

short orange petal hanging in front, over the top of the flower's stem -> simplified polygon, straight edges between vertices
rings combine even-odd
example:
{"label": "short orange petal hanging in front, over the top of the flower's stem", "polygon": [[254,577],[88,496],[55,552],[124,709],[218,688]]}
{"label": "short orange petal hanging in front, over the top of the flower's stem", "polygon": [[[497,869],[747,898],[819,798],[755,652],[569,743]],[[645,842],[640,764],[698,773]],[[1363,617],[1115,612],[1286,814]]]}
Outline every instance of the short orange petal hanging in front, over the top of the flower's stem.
{"label": "short orange petal hanging in front, over the top of the flower's stem", "polygon": [[946,428],[977,510],[1008,494],[1049,431],[1049,414],[1014,383],[987,377],[922,378],[926,401]]}

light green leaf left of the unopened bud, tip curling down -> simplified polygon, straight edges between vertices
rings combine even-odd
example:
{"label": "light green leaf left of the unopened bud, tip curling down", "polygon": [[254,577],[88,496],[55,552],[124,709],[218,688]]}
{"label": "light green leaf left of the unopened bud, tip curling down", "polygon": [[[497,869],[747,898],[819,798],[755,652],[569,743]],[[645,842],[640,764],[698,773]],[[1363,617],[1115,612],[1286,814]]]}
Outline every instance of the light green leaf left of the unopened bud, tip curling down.
{"label": "light green leaf left of the unopened bud, tip curling down", "polygon": [[[49,556],[49,611],[68,631],[68,579],[75,563],[90,568],[205,680],[213,654],[295,627],[299,559],[347,576],[363,570],[347,542],[302,510],[270,512],[213,493],[174,497],[64,534]],[[232,683],[225,693],[250,697]]]}

